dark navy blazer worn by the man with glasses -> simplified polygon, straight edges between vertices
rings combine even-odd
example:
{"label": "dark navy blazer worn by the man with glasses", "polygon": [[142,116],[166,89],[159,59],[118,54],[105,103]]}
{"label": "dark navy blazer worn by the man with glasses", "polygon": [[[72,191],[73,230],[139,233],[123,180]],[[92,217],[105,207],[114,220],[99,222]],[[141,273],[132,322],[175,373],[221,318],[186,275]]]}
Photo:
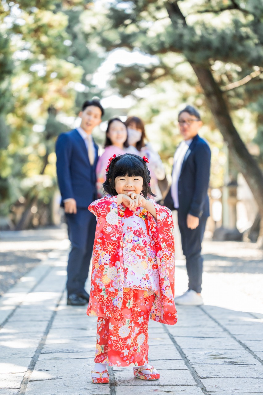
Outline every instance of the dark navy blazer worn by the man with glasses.
{"label": "dark navy blazer worn by the man with glasses", "polygon": [[[210,176],[211,151],[207,142],[197,134],[190,144],[178,179],[178,220],[185,220],[187,214],[196,217],[209,216],[207,194]],[[164,199],[164,205],[175,210],[171,188]]]}

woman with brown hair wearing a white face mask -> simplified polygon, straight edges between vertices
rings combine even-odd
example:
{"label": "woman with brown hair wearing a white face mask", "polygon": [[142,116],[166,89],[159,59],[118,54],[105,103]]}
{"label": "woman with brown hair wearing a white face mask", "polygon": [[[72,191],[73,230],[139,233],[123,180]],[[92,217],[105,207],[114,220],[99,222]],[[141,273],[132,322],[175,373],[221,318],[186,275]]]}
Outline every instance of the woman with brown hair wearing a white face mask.
{"label": "woman with brown hair wearing a white face mask", "polygon": [[[158,185],[160,181],[166,180],[165,169],[158,152],[152,149],[149,143],[145,143],[146,134],[143,121],[138,117],[128,117],[125,121],[128,130],[128,143],[137,149],[137,154],[146,156],[149,160],[148,169],[151,176],[151,190],[156,195],[154,200],[157,203],[163,199],[162,192]],[[168,184],[167,184],[168,186]]]}

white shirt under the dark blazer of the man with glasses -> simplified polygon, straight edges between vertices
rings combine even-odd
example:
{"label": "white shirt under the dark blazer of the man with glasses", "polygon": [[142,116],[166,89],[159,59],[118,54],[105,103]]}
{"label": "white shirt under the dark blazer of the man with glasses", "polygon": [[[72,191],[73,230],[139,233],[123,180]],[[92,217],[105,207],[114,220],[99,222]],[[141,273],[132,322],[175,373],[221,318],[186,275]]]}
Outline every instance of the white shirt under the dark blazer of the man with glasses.
{"label": "white shirt under the dark blazer of the man with glasses", "polygon": [[172,185],[171,185],[171,195],[173,198],[173,205],[175,209],[179,207],[178,199],[178,180],[180,177],[182,163],[184,162],[185,154],[192,143],[193,139],[183,140],[177,150],[175,151],[175,156],[173,157],[173,173],[172,173]]}

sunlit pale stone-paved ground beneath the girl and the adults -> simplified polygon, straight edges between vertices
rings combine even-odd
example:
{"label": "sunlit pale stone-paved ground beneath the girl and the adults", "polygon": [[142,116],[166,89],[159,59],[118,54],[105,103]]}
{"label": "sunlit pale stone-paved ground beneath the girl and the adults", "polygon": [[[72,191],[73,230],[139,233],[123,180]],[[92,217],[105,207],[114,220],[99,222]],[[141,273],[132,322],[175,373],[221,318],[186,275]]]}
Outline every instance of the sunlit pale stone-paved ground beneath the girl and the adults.
{"label": "sunlit pale stone-paved ground beneath the girl and the adults", "polygon": [[[110,385],[99,386],[90,382],[96,318],[66,306],[66,233],[12,235],[0,233],[7,256],[16,246],[45,254],[0,298],[0,395],[139,395],[142,386],[160,395],[263,394],[263,259],[255,245],[204,243],[205,305],[178,306],[173,327],[150,321],[149,358],[160,380],[114,367]],[[180,294],[187,277],[179,250],[177,258]]]}

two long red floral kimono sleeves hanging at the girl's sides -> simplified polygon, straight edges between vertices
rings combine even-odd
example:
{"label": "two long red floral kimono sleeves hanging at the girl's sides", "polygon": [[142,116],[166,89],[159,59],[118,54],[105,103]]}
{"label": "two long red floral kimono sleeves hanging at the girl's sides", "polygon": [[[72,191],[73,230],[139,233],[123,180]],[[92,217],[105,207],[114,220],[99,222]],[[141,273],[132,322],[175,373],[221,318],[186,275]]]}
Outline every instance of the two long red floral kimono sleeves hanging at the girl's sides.
{"label": "two long red floral kimono sleeves hanging at the girl's sides", "polygon": [[[177,311],[174,302],[175,245],[172,213],[154,203],[157,220],[147,212],[148,227],[155,247],[160,275],[160,293],[150,312],[154,321],[174,325]],[[106,196],[90,204],[88,209],[97,218],[93,249],[90,301],[87,314],[115,317],[123,303],[124,264],[122,255],[122,210],[116,196]]]}

